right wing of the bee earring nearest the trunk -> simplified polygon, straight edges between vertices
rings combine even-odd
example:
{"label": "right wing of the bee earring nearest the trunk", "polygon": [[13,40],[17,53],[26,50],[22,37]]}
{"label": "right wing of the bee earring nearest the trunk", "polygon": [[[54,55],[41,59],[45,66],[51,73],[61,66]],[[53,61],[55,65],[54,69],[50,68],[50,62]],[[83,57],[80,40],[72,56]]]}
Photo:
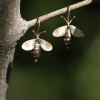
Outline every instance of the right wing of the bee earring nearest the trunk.
{"label": "right wing of the bee earring nearest the trunk", "polygon": [[47,42],[43,39],[39,39],[39,42],[40,42],[41,48],[43,50],[45,50],[45,51],[51,51],[52,50],[53,47],[52,47],[51,43],[49,43],[49,42]]}

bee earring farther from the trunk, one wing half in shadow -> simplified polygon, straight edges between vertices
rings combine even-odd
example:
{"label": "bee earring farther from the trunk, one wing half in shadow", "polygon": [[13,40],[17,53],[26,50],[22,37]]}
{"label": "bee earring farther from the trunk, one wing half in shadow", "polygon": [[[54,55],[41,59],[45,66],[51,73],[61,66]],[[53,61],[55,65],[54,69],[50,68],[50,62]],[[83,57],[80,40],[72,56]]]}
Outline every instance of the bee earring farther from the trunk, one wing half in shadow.
{"label": "bee earring farther from the trunk, one wing half in shadow", "polygon": [[73,36],[83,37],[84,33],[80,29],[78,29],[77,27],[70,25],[70,23],[75,18],[75,16],[70,20],[69,6],[68,6],[68,9],[67,9],[67,20],[63,16],[61,16],[61,18],[63,18],[65,20],[67,25],[55,29],[53,31],[53,36],[54,37],[64,36],[64,42],[65,42],[66,48],[69,49],[69,46],[72,43]]}

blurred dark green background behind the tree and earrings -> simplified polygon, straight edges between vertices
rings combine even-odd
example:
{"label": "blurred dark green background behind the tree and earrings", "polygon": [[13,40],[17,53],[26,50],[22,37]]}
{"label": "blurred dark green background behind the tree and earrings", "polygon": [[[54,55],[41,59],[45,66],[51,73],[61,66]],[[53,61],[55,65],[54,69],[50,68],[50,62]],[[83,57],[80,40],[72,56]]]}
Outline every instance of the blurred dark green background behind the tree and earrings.
{"label": "blurred dark green background behind the tree and earrings", "polygon": [[[26,20],[42,16],[81,0],[22,0],[21,14]],[[66,18],[67,14],[63,14]],[[41,52],[37,63],[31,52],[21,49],[32,38],[33,27],[18,41],[7,100],[100,100],[100,2],[71,11],[71,23],[85,36],[74,37],[69,50],[63,37],[52,36],[53,30],[66,23],[55,17],[41,23],[40,38],[53,45]]]}

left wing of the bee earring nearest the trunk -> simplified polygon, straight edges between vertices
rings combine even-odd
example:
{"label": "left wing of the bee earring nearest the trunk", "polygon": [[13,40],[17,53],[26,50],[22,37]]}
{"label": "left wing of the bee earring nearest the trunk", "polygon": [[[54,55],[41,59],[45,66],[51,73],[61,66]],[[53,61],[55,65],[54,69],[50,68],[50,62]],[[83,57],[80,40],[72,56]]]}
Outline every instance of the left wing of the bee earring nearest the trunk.
{"label": "left wing of the bee earring nearest the trunk", "polygon": [[22,44],[22,49],[25,50],[25,51],[32,50],[34,48],[35,41],[36,41],[36,39],[31,39],[31,40],[25,41]]}

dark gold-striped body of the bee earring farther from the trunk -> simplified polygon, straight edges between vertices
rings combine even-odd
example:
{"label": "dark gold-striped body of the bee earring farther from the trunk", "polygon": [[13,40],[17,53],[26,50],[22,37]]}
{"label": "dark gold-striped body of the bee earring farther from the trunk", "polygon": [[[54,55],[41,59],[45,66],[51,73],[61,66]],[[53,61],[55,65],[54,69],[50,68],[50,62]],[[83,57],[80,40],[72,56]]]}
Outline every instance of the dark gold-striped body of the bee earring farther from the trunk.
{"label": "dark gold-striped body of the bee earring farther from the trunk", "polygon": [[66,45],[66,48],[69,49],[69,46],[72,43],[72,39],[73,36],[71,35],[71,29],[67,27],[66,31],[65,31],[65,35],[64,35],[64,42]]}

